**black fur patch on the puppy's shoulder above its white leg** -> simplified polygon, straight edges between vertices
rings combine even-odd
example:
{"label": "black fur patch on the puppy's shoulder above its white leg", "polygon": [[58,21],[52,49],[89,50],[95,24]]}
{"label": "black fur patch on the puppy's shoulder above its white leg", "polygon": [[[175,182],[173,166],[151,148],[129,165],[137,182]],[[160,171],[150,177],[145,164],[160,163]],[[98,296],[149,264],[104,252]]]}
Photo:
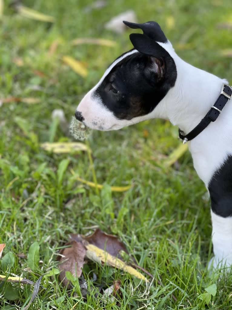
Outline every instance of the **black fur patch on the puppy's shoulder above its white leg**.
{"label": "black fur patch on the puppy's shoulder above its white leg", "polygon": [[222,217],[232,215],[232,155],[214,173],[208,190],[212,211]]}

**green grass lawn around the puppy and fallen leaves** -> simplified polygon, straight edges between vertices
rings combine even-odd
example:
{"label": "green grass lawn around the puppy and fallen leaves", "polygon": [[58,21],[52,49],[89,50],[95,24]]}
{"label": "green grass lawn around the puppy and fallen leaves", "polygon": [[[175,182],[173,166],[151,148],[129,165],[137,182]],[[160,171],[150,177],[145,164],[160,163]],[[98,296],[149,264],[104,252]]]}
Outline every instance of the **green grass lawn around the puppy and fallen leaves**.
{"label": "green grass lawn around the puppy and fallen leaves", "polygon": [[[186,153],[178,169],[161,167],[164,156],[180,144],[177,128],[168,121],[153,120],[117,132],[92,133],[89,144],[98,183],[133,184],[125,193],[111,193],[105,186],[96,194],[94,188],[72,177],[71,168],[81,178],[93,181],[87,153],[52,154],[39,144],[71,140],[59,127],[52,131],[52,111],[62,108],[71,120],[79,100],[98,82],[108,64],[131,48],[130,32],[118,35],[103,27],[126,9],[134,9],[140,22],[158,21],[184,60],[231,83],[232,61],[221,55],[221,50],[231,48],[231,30],[217,27],[232,21],[231,0],[210,4],[206,0],[109,0],[105,7],[86,12],[91,3],[23,1],[54,16],[55,23],[47,24],[19,16],[10,1],[4,1],[0,99],[40,100],[0,107],[0,242],[6,243],[3,255],[11,252],[14,257],[6,273],[36,281],[57,266],[56,254],[70,233],[87,234],[99,227],[119,236],[138,264],[153,274],[153,285],[146,289],[145,283],[138,286],[139,281],[125,272],[89,262],[84,266],[87,299],[78,297],[75,289],[62,287],[58,277],[43,278],[46,290],[41,288],[30,309],[71,309],[78,301],[75,309],[203,309],[199,296],[213,283],[217,294],[206,308],[230,309],[231,274],[219,278],[207,274],[206,265],[212,257],[210,203],[191,156]],[[170,16],[173,28],[167,26]],[[117,45],[72,46],[71,40],[78,37],[111,39]],[[60,44],[51,55],[49,48],[55,40]],[[88,76],[73,72],[62,62],[63,55],[85,63]],[[39,76],[36,70],[44,75]],[[58,166],[65,159],[69,164],[61,174]],[[35,241],[40,245],[40,262],[32,272],[27,259],[17,254],[27,255]],[[0,274],[5,272],[3,267],[0,261]],[[93,273],[97,276],[94,282]],[[120,303],[104,304],[101,287],[106,289],[114,280],[121,281]],[[19,298],[9,300],[4,294],[9,293],[10,284],[0,283],[2,309],[21,309],[31,296],[30,286],[13,286]]]}

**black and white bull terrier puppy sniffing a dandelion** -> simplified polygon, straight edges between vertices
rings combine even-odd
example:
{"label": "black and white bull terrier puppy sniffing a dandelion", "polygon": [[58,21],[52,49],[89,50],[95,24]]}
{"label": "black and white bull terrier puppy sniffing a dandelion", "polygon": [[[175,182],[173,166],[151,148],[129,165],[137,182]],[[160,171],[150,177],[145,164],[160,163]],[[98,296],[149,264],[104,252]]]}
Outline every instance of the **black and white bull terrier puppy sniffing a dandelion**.
{"label": "black and white bull terrier puppy sniffing a dandelion", "polygon": [[229,267],[232,265],[232,90],[226,80],[180,59],[156,22],[125,24],[142,29],[143,34],[130,35],[134,49],[114,60],[84,96],[75,117],[102,131],[118,130],[157,117],[177,125],[184,142],[191,140],[188,144],[195,170],[211,198],[215,256],[209,266]]}

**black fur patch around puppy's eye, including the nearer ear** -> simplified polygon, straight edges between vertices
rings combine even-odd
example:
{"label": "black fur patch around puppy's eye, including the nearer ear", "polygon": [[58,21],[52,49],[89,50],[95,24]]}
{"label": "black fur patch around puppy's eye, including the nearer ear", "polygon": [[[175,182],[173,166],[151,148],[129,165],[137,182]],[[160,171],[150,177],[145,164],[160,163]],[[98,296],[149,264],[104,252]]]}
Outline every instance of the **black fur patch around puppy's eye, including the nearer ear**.
{"label": "black fur patch around puppy's eye, including the nearer ear", "polygon": [[152,112],[177,77],[173,58],[155,40],[144,34],[130,38],[138,52],[118,62],[93,94],[115,117],[127,120]]}

